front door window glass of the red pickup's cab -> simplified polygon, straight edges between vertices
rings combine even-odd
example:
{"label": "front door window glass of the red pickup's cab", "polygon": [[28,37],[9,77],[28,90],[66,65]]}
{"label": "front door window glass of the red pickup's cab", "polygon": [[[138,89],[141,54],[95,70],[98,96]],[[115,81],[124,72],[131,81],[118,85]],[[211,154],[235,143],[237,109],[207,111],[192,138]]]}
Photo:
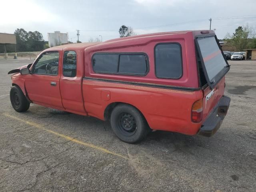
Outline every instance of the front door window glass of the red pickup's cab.
{"label": "front door window glass of the red pickup's cab", "polygon": [[46,52],[42,54],[34,65],[34,74],[58,75],[59,52]]}

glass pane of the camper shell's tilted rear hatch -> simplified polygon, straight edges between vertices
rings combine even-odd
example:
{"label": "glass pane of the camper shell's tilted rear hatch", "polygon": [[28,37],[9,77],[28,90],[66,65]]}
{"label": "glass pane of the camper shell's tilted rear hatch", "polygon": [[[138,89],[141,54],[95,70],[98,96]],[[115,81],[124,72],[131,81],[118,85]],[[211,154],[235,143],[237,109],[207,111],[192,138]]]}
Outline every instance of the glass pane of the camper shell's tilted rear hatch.
{"label": "glass pane of the camper shell's tilted rear hatch", "polygon": [[198,38],[198,45],[202,54],[209,80],[227,65],[214,36]]}

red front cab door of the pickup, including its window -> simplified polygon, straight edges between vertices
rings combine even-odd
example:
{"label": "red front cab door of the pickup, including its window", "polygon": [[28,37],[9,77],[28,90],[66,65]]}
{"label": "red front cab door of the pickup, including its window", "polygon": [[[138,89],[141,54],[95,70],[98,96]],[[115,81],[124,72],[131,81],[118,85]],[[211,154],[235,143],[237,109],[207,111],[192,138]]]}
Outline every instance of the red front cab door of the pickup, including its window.
{"label": "red front cab door of the pickup, including its window", "polygon": [[26,75],[25,87],[32,102],[64,109],[60,95],[62,49],[42,53]]}

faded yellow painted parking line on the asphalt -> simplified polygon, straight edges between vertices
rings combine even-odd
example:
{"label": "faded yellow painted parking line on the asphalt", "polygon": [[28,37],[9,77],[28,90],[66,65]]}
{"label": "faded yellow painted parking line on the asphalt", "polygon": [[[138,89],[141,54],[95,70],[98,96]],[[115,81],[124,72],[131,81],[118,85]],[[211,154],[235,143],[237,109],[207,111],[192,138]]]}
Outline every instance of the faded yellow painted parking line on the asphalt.
{"label": "faded yellow painted parking line on the asphalt", "polygon": [[105,148],[102,148],[102,147],[99,147],[99,146],[96,146],[96,145],[93,145],[93,144],[90,144],[90,143],[86,143],[86,142],[77,140],[77,139],[75,139],[75,138],[72,138],[72,137],[69,137],[69,136],[60,134],[60,133],[58,133],[58,132],[52,131],[52,130],[50,130],[50,129],[46,129],[46,128],[44,128],[43,126],[41,126],[41,125],[39,125],[39,124],[36,124],[36,123],[34,123],[34,122],[29,122],[29,121],[20,119],[20,118],[18,118],[18,117],[15,117],[15,116],[12,116],[12,115],[9,115],[9,114],[6,114],[6,113],[4,113],[3,115],[6,116],[6,117],[9,117],[9,118],[18,120],[18,121],[20,121],[20,122],[24,122],[24,123],[26,123],[26,124],[28,124],[28,125],[34,126],[34,127],[38,128],[38,129],[44,130],[44,131],[49,132],[49,133],[52,133],[52,134],[54,134],[54,135],[60,136],[60,137],[62,137],[62,138],[64,138],[64,139],[66,139],[66,140],[70,140],[71,142],[74,142],[74,143],[77,143],[77,144],[80,144],[80,145],[83,145],[83,146],[86,146],[86,147],[90,147],[90,148],[99,150],[99,151],[104,152],[104,153],[112,154],[112,155],[114,155],[114,156],[118,156],[118,157],[121,157],[121,158],[126,159],[126,160],[129,159],[129,158],[125,157],[125,156],[122,156],[121,154],[118,154],[118,153],[115,153],[115,152],[111,152],[111,151],[109,151],[109,150],[107,150],[107,149],[105,149]]}

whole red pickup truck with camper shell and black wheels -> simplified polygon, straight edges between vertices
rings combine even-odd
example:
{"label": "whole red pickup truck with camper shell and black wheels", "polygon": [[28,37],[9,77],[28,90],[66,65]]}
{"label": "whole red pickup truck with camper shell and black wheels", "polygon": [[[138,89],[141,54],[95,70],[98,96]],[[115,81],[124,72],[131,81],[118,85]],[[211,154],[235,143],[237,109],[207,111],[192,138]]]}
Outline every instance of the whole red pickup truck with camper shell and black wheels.
{"label": "whole red pickup truck with camper shell and black wheels", "polygon": [[56,46],[14,73],[10,100],[110,120],[120,140],[150,130],[212,136],[226,116],[230,69],[214,31],[145,34]]}

